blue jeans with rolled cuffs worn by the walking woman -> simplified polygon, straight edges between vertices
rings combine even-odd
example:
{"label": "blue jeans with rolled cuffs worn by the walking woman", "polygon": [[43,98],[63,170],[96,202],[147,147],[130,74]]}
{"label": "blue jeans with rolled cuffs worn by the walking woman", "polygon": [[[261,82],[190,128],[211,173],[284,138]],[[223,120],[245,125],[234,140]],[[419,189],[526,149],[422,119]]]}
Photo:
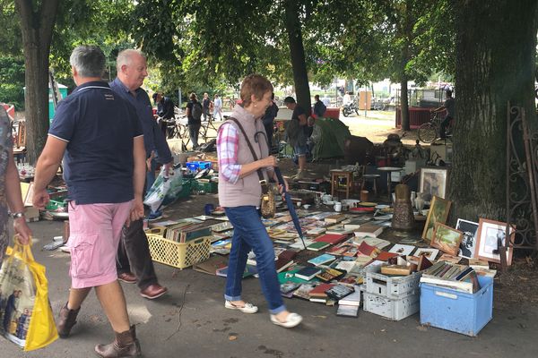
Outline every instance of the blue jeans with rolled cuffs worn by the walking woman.
{"label": "blue jeans with rolled cuffs worn by the walking woman", "polygon": [[225,208],[225,210],[233,225],[233,237],[224,298],[229,301],[241,300],[241,281],[247,265],[248,252],[252,249],[256,254],[256,268],[262,292],[269,303],[269,311],[272,314],[286,311],[274,268],[273,242],[262,224],[259,211],[254,206]]}

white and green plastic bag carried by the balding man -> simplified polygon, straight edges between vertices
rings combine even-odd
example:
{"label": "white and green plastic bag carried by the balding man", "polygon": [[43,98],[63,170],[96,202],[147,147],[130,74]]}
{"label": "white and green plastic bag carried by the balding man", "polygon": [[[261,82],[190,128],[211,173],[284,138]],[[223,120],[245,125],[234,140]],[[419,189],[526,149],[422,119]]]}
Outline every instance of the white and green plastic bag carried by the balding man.
{"label": "white and green plastic bag carried by the balding man", "polygon": [[182,189],[182,181],[183,177],[180,170],[165,176],[163,166],[152,188],[147,192],[143,203],[150,207],[152,211],[157,211],[171,204],[178,199],[178,194]]}

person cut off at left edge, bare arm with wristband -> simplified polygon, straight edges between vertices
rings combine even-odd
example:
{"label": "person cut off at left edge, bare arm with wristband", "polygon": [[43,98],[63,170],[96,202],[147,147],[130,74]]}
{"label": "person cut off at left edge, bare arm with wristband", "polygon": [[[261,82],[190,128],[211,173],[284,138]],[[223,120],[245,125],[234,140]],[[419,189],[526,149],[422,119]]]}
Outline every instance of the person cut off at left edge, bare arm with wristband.
{"label": "person cut off at left edge, bare arm with wristband", "polygon": [[13,159],[13,138],[11,136],[11,123],[4,107],[0,106],[0,262],[4,258],[5,248],[9,243],[7,223],[10,215],[13,217],[13,231],[19,235],[22,244],[30,243],[31,230],[24,217],[24,203],[22,202],[21,181],[19,170]]}

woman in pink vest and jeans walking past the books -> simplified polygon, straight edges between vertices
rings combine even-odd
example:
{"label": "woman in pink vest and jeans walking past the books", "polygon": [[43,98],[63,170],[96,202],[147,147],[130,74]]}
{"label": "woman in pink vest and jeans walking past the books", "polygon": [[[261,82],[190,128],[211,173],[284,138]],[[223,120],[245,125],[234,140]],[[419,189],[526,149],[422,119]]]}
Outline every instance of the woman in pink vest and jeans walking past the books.
{"label": "woman in pink vest and jeans walking past the books", "polygon": [[[244,132],[239,124],[229,119],[217,133],[219,202],[234,227],[224,307],[244,313],[258,311],[256,305],[247,303],[241,296],[241,280],[248,252],[252,250],[256,254],[259,281],[269,305],[271,321],[275,325],[292,328],[299,325],[302,317],[288,311],[282,301],[274,266],[273,242],[259,211],[262,188],[256,172],[261,170],[268,180],[273,178],[273,167],[277,165],[277,159],[269,155],[267,141],[256,141],[256,133],[264,132],[260,118],[271,106],[272,93],[270,81],[257,74],[248,75],[241,84],[242,105],[236,105],[231,115]],[[250,141],[258,160],[253,158],[247,141]]]}

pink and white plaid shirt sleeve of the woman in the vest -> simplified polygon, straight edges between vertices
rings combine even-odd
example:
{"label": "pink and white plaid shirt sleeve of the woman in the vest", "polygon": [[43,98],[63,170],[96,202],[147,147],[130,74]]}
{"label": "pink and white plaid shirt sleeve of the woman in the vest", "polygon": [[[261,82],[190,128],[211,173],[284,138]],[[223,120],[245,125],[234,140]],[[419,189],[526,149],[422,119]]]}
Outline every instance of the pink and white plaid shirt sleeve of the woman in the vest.
{"label": "pink and white plaid shirt sleeve of the woman in the vest", "polygon": [[238,182],[241,170],[241,165],[238,164],[238,146],[237,128],[228,123],[222,124],[217,136],[219,172],[227,182],[232,184]]}

